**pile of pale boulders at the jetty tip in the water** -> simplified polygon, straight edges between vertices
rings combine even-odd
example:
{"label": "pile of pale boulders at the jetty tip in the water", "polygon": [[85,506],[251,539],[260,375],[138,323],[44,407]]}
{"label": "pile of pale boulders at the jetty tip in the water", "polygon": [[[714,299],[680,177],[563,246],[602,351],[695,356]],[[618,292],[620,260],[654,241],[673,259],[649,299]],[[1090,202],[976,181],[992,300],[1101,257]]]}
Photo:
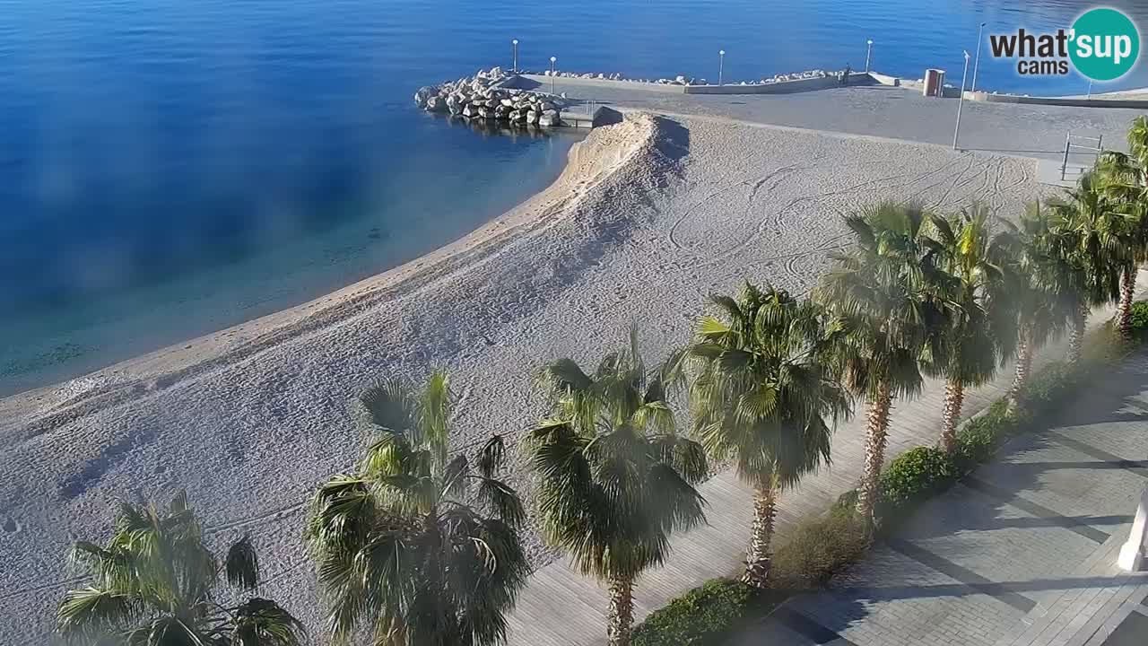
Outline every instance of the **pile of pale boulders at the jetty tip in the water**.
{"label": "pile of pale boulders at the jetty tip in the water", "polygon": [[419,87],[414,93],[414,105],[430,113],[468,120],[497,120],[544,128],[561,124],[560,98],[506,87],[512,78],[513,75],[502,68],[479,70],[473,77]]}

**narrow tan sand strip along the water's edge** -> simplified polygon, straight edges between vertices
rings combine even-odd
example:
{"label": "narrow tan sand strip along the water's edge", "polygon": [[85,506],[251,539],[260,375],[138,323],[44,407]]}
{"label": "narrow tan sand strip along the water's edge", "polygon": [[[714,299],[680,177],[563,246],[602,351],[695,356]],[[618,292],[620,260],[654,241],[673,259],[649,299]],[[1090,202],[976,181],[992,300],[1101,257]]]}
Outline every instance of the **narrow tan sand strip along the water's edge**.
{"label": "narrow tan sand strip along the water's edge", "polygon": [[[579,160],[597,166],[592,157],[620,164],[627,154],[652,138],[647,118],[645,129],[635,139],[611,141],[610,149],[582,153],[574,144],[561,174],[543,191],[527,198],[511,210],[487,222],[466,236],[434,251],[374,276],[357,280],[307,302],[254,318],[230,328],[186,339],[169,346],[116,362],[63,382],[14,393],[0,399],[0,444],[13,428],[23,426],[34,434],[53,425],[75,421],[95,408],[115,406],[132,397],[145,395],[178,384],[184,379],[250,357],[276,344],[303,337],[315,330],[338,325],[342,320],[401,298],[409,291],[466,270],[473,263],[496,254],[499,246],[529,236],[544,226],[550,217],[584,195],[592,180]],[[594,146],[594,143],[589,146]],[[614,151],[616,146],[620,149]],[[611,160],[611,155],[619,159]],[[597,169],[596,169],[597,170]],[[608,175],[612,168],[605,170]],[[67,412],[71,410],[71,414]]]}

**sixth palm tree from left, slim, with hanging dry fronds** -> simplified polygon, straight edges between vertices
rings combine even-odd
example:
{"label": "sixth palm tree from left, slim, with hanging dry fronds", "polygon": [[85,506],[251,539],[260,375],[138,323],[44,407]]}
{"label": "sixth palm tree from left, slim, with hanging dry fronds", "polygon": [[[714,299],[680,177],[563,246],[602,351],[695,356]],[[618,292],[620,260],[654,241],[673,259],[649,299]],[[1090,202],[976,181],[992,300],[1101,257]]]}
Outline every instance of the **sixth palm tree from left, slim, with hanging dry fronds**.
{"label": "sixth palm tree from left, slim, with hanging dry fronds", "polygon": [[946,330],[945,408],[940,445],[956,448],[964,390],[996,375],[998,359],[1013,353],[1016,313],[1004,279],[1006,256],[990,231],[988,209],[974,207],[960,216],[932,216],[924,229],[925,262],[946,277],[952,317]]}

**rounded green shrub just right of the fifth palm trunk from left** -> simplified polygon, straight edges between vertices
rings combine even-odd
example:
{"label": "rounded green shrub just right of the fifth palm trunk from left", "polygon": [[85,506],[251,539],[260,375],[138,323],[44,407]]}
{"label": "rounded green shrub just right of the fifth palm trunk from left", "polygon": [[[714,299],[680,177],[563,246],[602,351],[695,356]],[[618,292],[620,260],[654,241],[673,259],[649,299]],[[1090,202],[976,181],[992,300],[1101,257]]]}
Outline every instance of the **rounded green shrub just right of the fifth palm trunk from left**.
{"label": "rounded green shrub just right of the fifth palm trunk from left", "polygon": [[895,520],[924,499],[947,489],[957,469],[944,451],[918,446],[898,455],[881,474],[882,521]]}

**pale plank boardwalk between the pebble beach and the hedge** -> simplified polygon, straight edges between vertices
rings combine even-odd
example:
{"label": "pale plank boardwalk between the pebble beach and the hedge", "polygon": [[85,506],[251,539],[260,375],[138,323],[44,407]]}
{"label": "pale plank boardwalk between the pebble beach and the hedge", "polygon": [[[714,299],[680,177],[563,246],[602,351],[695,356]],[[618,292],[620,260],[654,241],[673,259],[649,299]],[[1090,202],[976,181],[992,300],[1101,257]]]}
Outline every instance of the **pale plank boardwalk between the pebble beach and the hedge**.
{"label": "pale plank boardwalk between the pebble beach and the hedge", "polygon": [[[1148,272],[1141,271],[1138,287],[1148,285]],[[1091,325],[1100,325],[1111,316],[1111,309],[1096,312]],[[1045,348],[1035,357],[1035,367],[1063,356],[1063,344]],[[964,401],[964,417],[977,414],[1002,397],[1013,382],[1011,368],[1002,370],[991,384],[969,392]],[[1145,380],[1148,387],[1148,377]],[[934,445],[940,428],[944,384],[926,384],[920,398],[893,405],[886,460],[922,445]],[[1148,405],[1146,405],[1148,409]],[[1148,441],[1140,446],[1148,451]],[[824,513],[837,498],[856,486],[861,475],[864,451],[864,416],[856,416],[841,424],[833,437],[830,468],[806,477],[796,490],[786,492],[777,515],[779,544],[786,540],[794,525],[807,517]],[[1145,484],[1148,484],[1146,482]],[[1128,490],[1139,495],[1142,487]],[[700,491],[708,502],[708,524],[673,539],[674,552],[662,568],[643,576],[635,590],[635,622],[641,622],[652,610],[670,599],[706,580],[739,571],[744,562],[746,540],[750,536],[752,491],[732,472],[723,472],[706,482]],[[1119,500],[1119,499],[1118,499]],[[1134,508],[1134,506],[1133,506]],[[1122,508],[1122,514],[1127,509]],[[952,528],[951,531],[955,531]],[[964,545],[976,551],[976,545]],[[875,572],[877,574],[877,572]],[[607,595],[596,580],[574,571],[561,560],[537,570],[509,617],[510,646],[590,646],[605,643]],[[839,626],[841,628],[841,626]],[[763,644],[751,639],[740,644]],[[816,644],[817,641],[812,641]],[[773,644],[790,644],[773,641]],[[794,643],[798,644],[798,643]],[[847,643],[841,643],[847,644]],[[874,643],[878,644],[878,643]]]}

